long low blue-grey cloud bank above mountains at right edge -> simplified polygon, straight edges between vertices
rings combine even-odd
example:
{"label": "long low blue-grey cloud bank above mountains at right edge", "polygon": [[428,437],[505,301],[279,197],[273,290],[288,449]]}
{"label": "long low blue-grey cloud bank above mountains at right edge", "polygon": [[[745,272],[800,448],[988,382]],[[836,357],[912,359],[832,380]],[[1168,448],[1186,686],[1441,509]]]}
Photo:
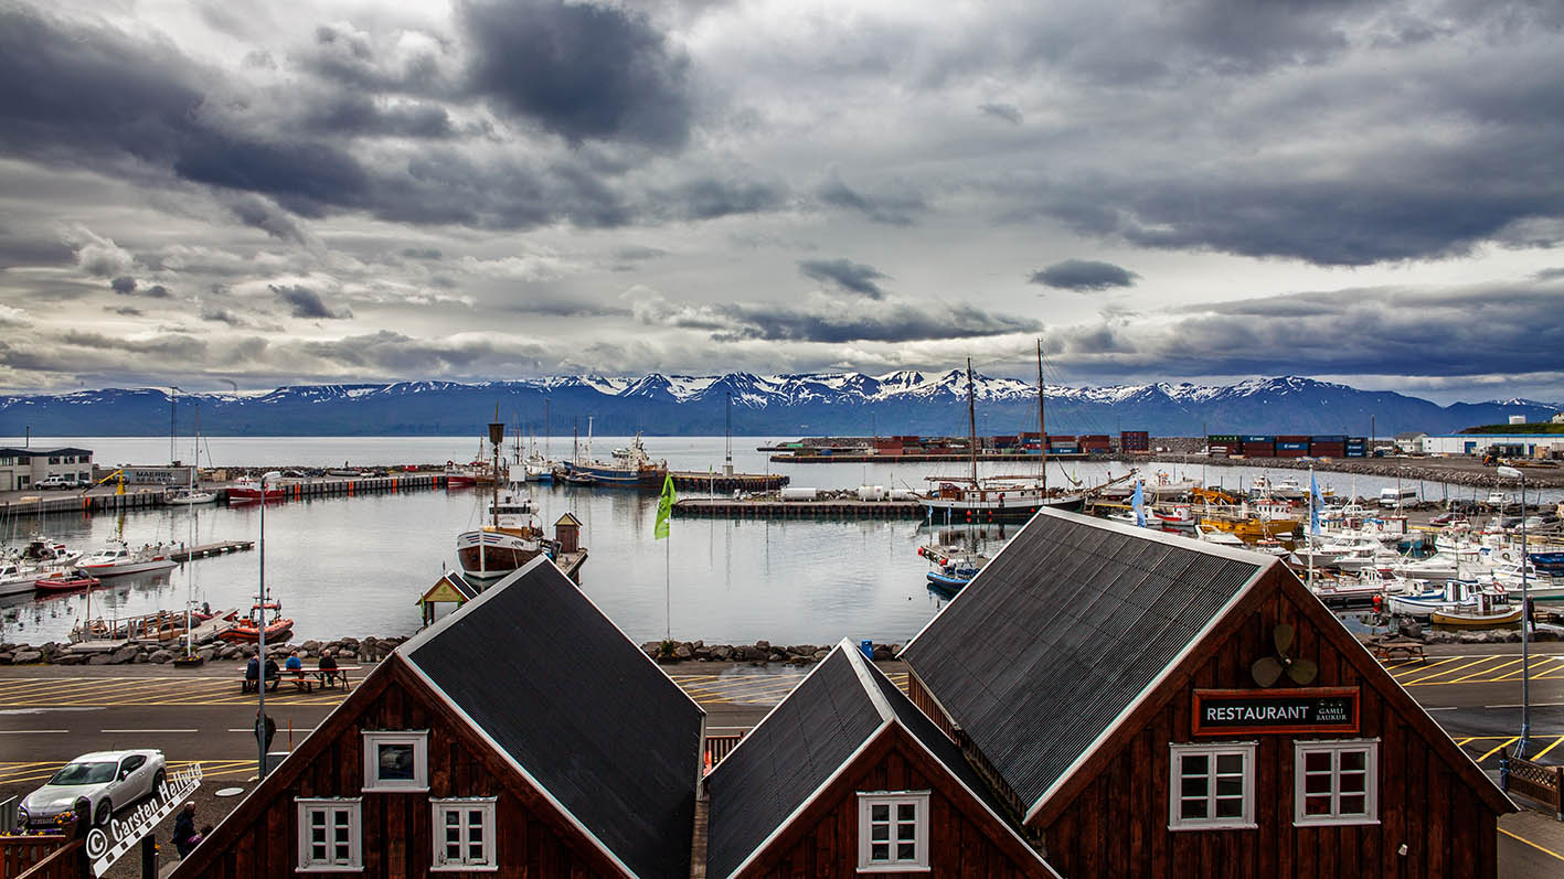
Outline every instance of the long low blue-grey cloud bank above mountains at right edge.
{"label": "long low blue-grey cloud bank above mountains at right edge", "polygon": [[[1556,372],[1564,294],[1526,285],[1365,288],[1190,305],[1051,338],[1078,363],[1168,375],[1489,375]],[[1517,339],[1523,343],[1517,344]],[[1281,347],[1279,347],[1281,346]]]}

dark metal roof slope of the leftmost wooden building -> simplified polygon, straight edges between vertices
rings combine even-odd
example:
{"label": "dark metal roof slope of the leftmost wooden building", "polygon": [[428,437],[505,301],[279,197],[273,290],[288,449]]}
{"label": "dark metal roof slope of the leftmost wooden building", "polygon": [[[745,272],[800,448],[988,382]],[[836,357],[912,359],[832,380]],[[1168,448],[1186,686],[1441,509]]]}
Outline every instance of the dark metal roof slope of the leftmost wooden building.
{"label": "dark metal roof slope of the leftmost wooden building", "polygon": [[407,648],[635,874],[690,874],[704,712],[558,568],[524,568]]}

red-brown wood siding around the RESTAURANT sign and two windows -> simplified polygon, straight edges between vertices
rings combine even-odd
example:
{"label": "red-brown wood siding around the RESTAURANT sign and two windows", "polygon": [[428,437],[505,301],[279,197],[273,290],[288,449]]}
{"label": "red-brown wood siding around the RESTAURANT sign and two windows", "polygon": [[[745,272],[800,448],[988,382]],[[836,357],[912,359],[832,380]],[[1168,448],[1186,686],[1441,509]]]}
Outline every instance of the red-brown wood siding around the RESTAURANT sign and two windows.
{"label": "red-brown wood siding around the RESTAURANT sign and two windows", "polygon": [[[1497,813],[1470,776],[1447,762],[1448,751],[1436,751],[1425,727],[1364,680],[1339,640],[1322,637],[1318,615],[1304,615],[1298,604],[1312,596],[1270,583],[1257,585],[1251,599],[1236,608],[1242,619],[1204,651],[1189,679],[1164,685],[1173,688],[1171,698],[1143,719],[1132,716],[1139,726],[1115,735],[1082,766],[1087,780],[1038,816],[1034,826],[1045,834],[1049,865],[1064,876],[1092,877],[1494,876]],[[1312,687],[1361,687],[1359,732],[1231,737],[1259,741],[1257,827],[1170,831],[1168,743],[1196,741],[1190,735],[1193,690],[1254,688],[1250,665],[1273,651],[1278,622],[1297,632],[1290,654],[1318,663]],[[1379,824],[1293,827],[1293,740],[1318,738],[1379,738]],[[1398,854],[1403,843],[1404,856]]]}

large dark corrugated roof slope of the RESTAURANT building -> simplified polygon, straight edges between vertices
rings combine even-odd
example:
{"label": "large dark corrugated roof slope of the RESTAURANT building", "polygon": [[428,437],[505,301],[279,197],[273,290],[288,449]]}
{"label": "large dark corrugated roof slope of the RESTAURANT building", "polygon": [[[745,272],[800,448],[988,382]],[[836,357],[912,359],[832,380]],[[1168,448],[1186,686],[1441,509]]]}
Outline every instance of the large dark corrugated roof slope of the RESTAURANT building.
{"label": "large dark corrugated roof slope of the RESTAURANT building", "polygon": [[1045,510],[901,655],[1032,805],[1265,563]]}

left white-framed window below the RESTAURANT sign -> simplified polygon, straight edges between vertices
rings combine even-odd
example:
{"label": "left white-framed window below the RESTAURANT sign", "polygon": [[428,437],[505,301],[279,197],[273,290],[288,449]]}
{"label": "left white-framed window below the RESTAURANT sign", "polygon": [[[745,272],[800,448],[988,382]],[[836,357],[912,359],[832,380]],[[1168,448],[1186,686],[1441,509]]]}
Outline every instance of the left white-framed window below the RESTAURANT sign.
{"label": "left white-framed window below the RESTAURANT sign", "polygon": [[1254,743],[1170,744],[1168,829],[1254,826]]}

